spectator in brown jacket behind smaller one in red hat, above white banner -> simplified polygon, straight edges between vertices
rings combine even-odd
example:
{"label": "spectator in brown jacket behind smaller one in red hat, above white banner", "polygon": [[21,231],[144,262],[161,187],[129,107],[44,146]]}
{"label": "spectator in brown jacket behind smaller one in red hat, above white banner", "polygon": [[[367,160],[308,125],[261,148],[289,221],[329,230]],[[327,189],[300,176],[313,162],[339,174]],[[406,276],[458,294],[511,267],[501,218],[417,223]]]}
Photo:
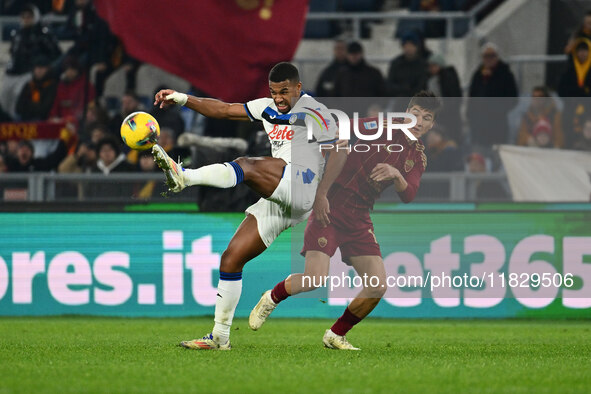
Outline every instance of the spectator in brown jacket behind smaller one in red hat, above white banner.
{"label": "spectator in brown jacket behind smaller one in red hat, above white banner", "polygon": [[532,91],[531,104],[521,119],[517,145],[537,146],[534,131],[539,130],[540,127],[549,129],[552,146],[556,148],[564,147],[562,113],[556,108],[554,99],[550,97],[550,93],[545,86],[535,87]]}

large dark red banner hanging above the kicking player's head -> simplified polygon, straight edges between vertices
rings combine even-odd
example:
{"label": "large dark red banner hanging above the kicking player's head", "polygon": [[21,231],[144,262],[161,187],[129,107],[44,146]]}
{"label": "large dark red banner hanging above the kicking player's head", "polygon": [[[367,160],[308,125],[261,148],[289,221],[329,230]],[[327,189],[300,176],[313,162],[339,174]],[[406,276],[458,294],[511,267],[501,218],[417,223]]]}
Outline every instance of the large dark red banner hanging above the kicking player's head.
{"label": "large dark red banner hanging above the kicking player's head", "polygon": [[268,95],[267,75],[292,59],[308,0],[96,0],[127,52],[206,94],[244,102]]}

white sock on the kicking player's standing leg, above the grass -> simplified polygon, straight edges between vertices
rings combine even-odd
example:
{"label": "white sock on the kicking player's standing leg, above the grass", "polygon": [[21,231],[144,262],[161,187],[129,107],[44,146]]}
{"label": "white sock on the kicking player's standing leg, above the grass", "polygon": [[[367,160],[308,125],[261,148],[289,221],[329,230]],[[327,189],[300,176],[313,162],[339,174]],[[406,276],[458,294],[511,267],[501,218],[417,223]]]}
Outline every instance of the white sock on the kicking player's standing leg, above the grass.
{"label": "white sock on the kicking player's standing leg, above the grass", "polygon": [[[220,273],[223,275],[224,273]],[[226,274],[228,275],[228,274]],[[235,275],[234,280],[224,280],[220,278],[218,282],[218,296],[215,302],[215,325],[213,326],[213,338],[220,344],[224,344],[230,339],[230,327],[234,319],[234,312],[240,300],[242,293],[242,273],[240,272],[240,279],[236,280],[238,274]]]}

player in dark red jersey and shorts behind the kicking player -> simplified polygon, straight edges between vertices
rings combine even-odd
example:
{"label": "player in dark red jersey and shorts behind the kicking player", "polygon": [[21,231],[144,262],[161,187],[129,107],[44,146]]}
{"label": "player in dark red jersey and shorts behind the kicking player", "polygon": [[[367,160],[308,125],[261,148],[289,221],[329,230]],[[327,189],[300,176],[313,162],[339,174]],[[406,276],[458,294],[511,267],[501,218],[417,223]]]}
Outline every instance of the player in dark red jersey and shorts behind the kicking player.
{"label": "player in dark red jersey and shorts behind the kicking player", "polygon": [[[377,306],[386,292],[386,272],[370,210],[376,198],[389,186],[394,186],[403,202],[414,199],[427,167],[420,137],[433,127],[439,109],[440,102],[433,93],[420,92],[407,108],[407,112],[417,118],[417,124],[410,129],[416,141],[401,131],[395,133],[392,140],[387,140],[383,133],[378,140],[371,141],[367,152],[364,152],[365,147],[355,149],[366,141],[357,141],[352,146],[343,170],[329,190],[328,217],[320,218],[313,211],[308,219],[302,249],[306,258],[305,272],[288,276],[263,294],[250,314],[250,328],[258,330],[277,304],[287,297],[319,287],[328,275],[330,257],[338,247],[343,261],[352,265],[360,277],[367,275],[367,278],[378,279],[364,284],[363,290],[324,334],[326,347],[358,350],[345,335]],[[358,125],[361,133],[374,134],[378,119],[360,119]]]}

